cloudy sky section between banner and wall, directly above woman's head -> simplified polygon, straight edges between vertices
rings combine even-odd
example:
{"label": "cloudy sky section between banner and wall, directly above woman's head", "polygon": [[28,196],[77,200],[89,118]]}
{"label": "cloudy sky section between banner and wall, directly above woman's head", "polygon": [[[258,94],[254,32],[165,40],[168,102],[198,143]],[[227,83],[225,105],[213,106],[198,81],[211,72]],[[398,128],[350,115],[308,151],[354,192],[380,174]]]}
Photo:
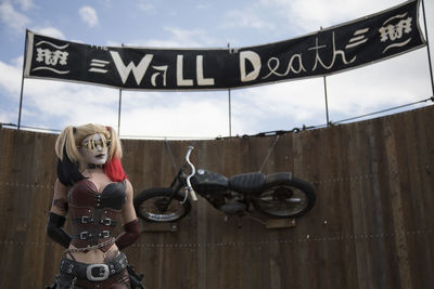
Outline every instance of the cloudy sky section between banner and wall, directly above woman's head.
{"label": "cloudy sky section between banner and wall, directly above woman's head", "polygon": [[23,122],[62,129],[67,124],[117,124],[118,92],[62,81],[26,79]]}

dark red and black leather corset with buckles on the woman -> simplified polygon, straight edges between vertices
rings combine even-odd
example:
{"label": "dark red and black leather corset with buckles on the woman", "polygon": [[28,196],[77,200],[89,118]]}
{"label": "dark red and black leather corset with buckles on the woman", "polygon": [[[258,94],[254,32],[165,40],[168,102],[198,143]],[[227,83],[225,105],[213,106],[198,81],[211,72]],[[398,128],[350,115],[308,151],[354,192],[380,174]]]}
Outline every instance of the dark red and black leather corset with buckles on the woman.
{"label": "dark red and black leather corset with buckles on the woman", "polygon": [[69,216],[73,222],[72,245],[77,248],[97,246],[105,252],[112,247],[113,231],[126,200],[126,184],[110,183],[99,193],[93,182],[85,179],[68,192]]}

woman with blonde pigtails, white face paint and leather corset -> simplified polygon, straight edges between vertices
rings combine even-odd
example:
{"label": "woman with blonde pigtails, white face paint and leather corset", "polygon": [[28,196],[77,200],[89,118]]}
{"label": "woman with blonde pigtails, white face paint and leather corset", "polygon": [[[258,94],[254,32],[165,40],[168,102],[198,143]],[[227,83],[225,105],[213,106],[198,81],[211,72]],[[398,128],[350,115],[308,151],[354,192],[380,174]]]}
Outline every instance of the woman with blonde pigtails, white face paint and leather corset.
{"label": "woman with blonde pigtails, white face paint and leather corset", "polygon": [[[67,127],[55,153],[58,180],[47,233],[66,248],[55,288],[130,288],[120,250],[135,242],[140,231],[116,132],[91,123]],[[67,213],[72,235],[63,229]],[[124,232],[115,238],[118,215]]]}

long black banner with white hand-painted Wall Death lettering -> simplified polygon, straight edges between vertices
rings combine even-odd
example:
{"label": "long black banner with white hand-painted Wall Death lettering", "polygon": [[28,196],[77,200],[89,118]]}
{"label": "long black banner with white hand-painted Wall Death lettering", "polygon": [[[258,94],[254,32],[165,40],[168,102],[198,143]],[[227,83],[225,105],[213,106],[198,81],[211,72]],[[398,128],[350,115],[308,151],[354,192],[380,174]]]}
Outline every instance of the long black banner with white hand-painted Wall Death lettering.
{"label": "long black banner with white hand-painted Wall Death lettering", "polygon": [[356,68],[424,45],[419,1],[304,37],[239,49],[100,47],[27,32],[25,77],[137,90],[222,90]]}

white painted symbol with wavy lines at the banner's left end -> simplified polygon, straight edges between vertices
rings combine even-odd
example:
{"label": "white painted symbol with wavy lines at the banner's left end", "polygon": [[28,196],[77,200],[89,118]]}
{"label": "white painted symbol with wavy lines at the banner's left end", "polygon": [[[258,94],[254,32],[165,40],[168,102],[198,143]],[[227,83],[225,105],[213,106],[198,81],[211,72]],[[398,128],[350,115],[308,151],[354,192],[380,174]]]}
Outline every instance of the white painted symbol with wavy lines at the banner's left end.
{"label": "white painted symbol with wavy lines at the banner's left end", "polygon": [[[35,71],[35,70],[51,70],[51,71],[53,71],[55,74],[60,74],[60,75],[68,74],[69,70],[59,70],[59,69],[53,68],[52,66],[67,65],[67,57],[68,57],[69,53],[66,51],[62,51],[62,50],[67,48],[69,44],[59,47],[59,45],[55,45],[48,41],[40,41],[36,44],[36,47],[41,45],[41,44],[49,44],[49,45],[55,48],[56,50],[51,51],[49,49],[38,48],[36,50],[36,53],[37,53],[36,62],[42,63],[47,66],[36,67],[33,69],[33,71]],[[56,67],[56,68],[59,68],[59,67]]]}

